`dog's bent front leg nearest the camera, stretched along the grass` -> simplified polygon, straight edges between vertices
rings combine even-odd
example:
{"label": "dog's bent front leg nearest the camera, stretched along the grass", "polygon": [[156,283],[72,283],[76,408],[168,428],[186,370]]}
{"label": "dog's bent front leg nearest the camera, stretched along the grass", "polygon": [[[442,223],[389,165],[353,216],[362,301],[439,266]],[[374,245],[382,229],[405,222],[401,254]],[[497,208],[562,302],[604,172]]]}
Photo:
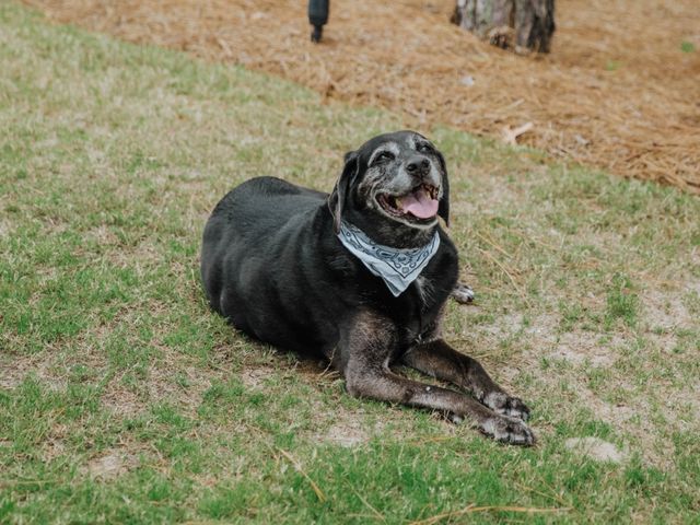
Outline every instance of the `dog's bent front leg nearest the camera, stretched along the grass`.
{"label": "dog's bent front leg nearest the camera, stretched along the grass", "polygon": [[495,413],[463,393],[392,372],[389,361],[396,342],[397,330],[392,323],[372,313],[362,313],[354,319],[341,339],[342,373],[351,395],[440,410],[453,420],[466,419],[485,434],[505,443],[535,442],[535,435],[520,419]]}

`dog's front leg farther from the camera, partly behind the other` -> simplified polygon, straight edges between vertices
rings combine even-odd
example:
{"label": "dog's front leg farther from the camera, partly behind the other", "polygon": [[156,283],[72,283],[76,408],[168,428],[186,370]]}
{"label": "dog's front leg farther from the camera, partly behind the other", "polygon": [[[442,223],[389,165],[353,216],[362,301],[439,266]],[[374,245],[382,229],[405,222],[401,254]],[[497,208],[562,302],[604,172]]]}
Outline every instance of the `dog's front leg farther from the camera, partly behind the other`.
{"label": "dog's front leg farther from the camera, partly behind the other", "polygon": [[479,401],[512,418],[527,421],[529,409],[501,388],[476,359],[457,352],[442,339],[412,347],[402,355],[404,364],[470,392]]}

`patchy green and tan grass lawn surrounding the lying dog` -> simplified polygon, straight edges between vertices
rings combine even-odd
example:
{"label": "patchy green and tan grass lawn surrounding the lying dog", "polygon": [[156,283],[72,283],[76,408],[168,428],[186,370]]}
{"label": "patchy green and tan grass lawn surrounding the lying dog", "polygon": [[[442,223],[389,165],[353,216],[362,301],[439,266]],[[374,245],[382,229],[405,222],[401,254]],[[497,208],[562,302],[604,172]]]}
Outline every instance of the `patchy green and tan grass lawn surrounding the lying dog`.
{"label": "patchy green and tan grass lawn surrounding the lying dog", "polygon": [[0,522],[698,523],[697,198],[422,130],[478,293],[446,338],[534,409],[539,445],[500,446],[350,398],[200,290],[228,189],[327,190],[410,120],[13,3],[0,27]]}

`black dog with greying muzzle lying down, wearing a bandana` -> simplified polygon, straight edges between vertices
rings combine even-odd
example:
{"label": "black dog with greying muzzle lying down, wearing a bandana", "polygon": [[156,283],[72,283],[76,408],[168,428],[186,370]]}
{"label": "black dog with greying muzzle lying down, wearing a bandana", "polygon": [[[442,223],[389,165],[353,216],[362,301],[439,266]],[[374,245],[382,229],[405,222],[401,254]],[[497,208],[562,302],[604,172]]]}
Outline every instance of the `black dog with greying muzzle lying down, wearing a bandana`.
{"label": "black dog with greying muzzle lying down, wearing a bandana", "polygon": [[[348,153],[330,195],[254,178],[217,205],[205,229],[209,303],[259,340],[325,357],[351,395],[441,410],[530,445],[527,407],[440,337],[457,250],[438,217],[448,222],[445,161],[411,131]],[[397,364],[474,397],[410,381]]]}

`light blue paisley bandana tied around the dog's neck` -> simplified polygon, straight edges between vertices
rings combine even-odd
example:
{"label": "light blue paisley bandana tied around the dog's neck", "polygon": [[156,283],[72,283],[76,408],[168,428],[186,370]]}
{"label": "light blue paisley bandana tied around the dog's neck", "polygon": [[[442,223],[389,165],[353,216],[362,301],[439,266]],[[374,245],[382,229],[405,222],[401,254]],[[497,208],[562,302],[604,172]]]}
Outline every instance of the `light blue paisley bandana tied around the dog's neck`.
{"label": "light blue paisley bandana tied around the dog's neck", "polygon": [[362,261],[384,283],[395,298],[399,296],[428,266],[440,247],[440,234],[420,248],[393,248],[372,241],[358,226],[342,221],[338,238],[342,245]]}

